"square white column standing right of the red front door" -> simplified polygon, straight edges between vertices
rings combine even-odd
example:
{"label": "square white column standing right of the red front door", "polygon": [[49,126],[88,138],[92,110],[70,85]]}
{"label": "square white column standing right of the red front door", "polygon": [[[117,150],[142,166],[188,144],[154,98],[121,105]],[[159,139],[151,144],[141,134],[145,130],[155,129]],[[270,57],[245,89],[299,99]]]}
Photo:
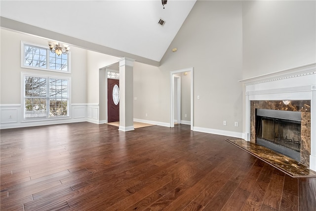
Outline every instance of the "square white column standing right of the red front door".
{"label": "square white column standing right of the red front door", "polygon": [[123,57],[119,61],[119,130],[134,130],[133,66],[134,59]]}

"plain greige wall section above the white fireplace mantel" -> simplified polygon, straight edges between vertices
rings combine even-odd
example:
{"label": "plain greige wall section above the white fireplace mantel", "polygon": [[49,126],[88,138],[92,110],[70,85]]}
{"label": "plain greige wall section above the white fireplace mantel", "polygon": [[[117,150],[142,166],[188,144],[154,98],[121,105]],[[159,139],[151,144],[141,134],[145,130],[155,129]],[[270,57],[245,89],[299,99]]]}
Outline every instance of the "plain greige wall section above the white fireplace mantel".
{"label": "plain greige wall section above the white fireplace mantel", "polygon": [[243,1],[243,79],[316,62],[316,1]]}

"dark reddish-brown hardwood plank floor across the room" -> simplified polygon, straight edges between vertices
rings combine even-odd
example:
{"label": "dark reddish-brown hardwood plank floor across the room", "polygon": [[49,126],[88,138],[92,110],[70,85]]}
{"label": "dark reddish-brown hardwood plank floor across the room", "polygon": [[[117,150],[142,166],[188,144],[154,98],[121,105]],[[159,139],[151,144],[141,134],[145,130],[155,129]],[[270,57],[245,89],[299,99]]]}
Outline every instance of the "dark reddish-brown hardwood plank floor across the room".
{"label": "dark reddish-brown hardwood plank floor across the room", "polygon": [[315,211],[292,178],[190,126],[75,123],[2,129],[1,211]]}

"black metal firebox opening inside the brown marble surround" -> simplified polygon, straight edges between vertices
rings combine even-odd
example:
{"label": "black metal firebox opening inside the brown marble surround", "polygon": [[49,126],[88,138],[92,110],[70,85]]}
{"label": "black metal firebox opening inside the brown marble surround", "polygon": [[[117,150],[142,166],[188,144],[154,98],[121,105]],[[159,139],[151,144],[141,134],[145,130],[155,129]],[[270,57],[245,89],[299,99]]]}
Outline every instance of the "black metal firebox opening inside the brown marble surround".
{"label": "black metal firebox opening inside the brown marble surround", "polygon": [[301,112],[256,109],[256,143],[300,162]]}

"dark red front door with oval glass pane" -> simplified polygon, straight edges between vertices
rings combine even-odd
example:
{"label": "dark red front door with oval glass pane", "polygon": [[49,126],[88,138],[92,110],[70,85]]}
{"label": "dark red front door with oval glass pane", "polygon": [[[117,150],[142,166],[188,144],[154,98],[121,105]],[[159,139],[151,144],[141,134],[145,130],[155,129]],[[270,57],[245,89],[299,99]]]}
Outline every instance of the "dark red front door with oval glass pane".
{"label": "dark red front door with oval glass pane", "polygon": [[119,122],[119,80],[108,79],[108,123]]}

